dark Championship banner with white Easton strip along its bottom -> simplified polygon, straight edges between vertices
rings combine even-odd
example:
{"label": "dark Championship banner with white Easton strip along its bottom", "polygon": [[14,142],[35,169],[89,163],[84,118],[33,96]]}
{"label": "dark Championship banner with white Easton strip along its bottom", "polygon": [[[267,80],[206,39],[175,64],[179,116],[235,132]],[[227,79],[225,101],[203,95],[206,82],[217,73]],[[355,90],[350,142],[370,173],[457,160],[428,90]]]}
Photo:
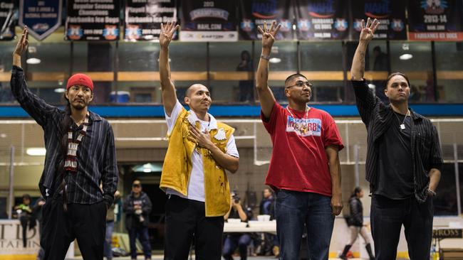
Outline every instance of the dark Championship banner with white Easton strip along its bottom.
{"label": "dark Championship banner with white Easton strip along its bottom", "polygon": [[236,41],[235,1],[181,1],[182,41]]}

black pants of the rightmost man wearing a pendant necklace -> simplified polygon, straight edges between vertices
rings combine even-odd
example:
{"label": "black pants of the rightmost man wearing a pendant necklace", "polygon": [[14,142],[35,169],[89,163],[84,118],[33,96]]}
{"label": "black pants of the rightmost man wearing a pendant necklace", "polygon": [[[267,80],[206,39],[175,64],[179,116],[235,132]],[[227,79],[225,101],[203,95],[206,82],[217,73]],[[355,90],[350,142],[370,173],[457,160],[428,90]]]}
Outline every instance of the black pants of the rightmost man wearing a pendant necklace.
{"label": "black pants of the rightmost man wearing a pendant necklace", "polygon": [[376,259],[396,258],[402,224],[410,259],[430,259],[433,216],[432,197],[419,203],[415,197],[391,200],[373,195],[370,220]]}

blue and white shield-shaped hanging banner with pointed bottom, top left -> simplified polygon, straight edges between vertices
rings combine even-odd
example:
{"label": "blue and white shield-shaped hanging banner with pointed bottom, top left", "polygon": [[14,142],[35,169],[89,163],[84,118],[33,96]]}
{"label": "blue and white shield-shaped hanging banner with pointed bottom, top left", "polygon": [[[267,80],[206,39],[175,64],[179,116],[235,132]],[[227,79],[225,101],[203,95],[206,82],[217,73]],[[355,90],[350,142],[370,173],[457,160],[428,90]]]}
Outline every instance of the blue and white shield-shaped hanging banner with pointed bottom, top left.
{"label": "blue and white shield-shaped hanging banner with pointed bottom, top left", "polygon": [[62,0],[20,0],[19,25],[33,38],[43,40],[61,26]]}

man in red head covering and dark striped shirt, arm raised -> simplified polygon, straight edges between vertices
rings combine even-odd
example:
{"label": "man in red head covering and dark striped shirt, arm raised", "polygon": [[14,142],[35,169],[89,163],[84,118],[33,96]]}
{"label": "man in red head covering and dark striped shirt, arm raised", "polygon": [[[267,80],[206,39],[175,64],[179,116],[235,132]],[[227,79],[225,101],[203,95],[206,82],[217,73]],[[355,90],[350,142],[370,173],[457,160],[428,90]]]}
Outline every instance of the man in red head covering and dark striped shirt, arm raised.
{"label": "man in red head covering and dark striped shirt, arm raised", "polygon": [[46,104],[28,90],[21,69],[27,33],[24,28],[13,53],[11,92],[43,128],[46,155],[38,183],[46,198],[42,210],[43,259],[64,259],[74,239],[84,259],[103,259],[106,210],[118,186],[113,130],[108,121],[88,111],[93,82],[86,75],[69,78],[66,111]]}

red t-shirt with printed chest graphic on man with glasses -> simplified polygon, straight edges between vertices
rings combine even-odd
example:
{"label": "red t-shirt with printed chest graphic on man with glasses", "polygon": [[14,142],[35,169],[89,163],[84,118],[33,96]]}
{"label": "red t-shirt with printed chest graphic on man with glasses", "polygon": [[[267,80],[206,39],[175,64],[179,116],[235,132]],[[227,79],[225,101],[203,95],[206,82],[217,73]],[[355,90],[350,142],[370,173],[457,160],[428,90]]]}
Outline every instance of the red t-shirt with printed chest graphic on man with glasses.
{"label": "red t-shirt with printed chest graphic on man with glasses", "polygon": [[331,196],[325,148],[344,148],[338,127],[323,110],[311,107],[306,117],[306,112],[288,109],[275,102],[269,119],[261,113],[274,144],[265,183],[277,189]]}

